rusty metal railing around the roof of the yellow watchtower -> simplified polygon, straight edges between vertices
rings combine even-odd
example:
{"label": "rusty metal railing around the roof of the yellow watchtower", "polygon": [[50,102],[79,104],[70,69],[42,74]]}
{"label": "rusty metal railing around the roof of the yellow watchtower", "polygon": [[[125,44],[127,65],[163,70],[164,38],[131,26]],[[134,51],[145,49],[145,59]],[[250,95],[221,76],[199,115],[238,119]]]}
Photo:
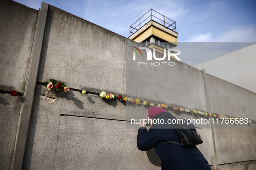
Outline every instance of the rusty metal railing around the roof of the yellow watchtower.
{"label": "rusty metal railing around the roof of the yellow watchtower", "polygon": [[[148,17],[146,17],[147,16],[146,14],[148,14],[149,12],[150,12],[150,15]],[[161,17],[163,20],[159,19],[157,16],[154,16],[152,14],[152,12],[155,13],[155,15],[158,15],[159,18]],[[144,19],[144,18],[146,18],[146,19]],[[146,24],[145,23],[146,20],[147,20],[146,22],[150,21],[149,19],[150,20],[156,19],[156,22],[158,22],[160,20],[163,23],[163,24],[162,23],[160,23],[160,24],[164,25],[167,28],[170,27],[169,29],[177,32],[176,31],[176,21],[173,21],[172,19],[167,18],[165,15],[162,15],[162,14],[156,12],[154,9],[150,8],[148,10],[148,12],[146,12],[143,16],[139,17],[139,19],[136,22],[134,22],[132,25],[130,25],[130,36],[133,35],[136,31],[138,31],[139,28],[143,27]],[[143,20],[143,21],[141,21],[141,20]],[[166,22],[166,20],[168,22]]]}

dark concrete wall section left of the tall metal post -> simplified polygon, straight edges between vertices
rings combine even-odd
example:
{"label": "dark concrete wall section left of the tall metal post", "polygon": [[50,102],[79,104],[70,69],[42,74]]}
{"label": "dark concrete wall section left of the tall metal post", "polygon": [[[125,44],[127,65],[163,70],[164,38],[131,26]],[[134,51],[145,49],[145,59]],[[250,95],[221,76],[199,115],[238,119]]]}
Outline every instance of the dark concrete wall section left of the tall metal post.
{"label": "dark concrete wall section left of the tall metal post", "polygon": [[[38,11],[0,2],[0,89],[24,93]],[[0,169],[10,169],[24,98],[0,94]]]}

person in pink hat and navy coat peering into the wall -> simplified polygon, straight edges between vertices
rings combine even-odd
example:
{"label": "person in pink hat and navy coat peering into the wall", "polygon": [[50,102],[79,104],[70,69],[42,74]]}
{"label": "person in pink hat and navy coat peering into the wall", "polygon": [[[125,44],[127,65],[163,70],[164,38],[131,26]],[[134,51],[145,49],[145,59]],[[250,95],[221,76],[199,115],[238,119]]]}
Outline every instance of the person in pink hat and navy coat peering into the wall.
{"label": "person in pink hat and navy coat peering into the wall", "polygon": [[[166,123],[168,119],[173,118],[171,113],[156,106],[151,107],[148,112],[150,120],[159,119],[160,121],[162,119]],[[184,147],[163,142],[174,141],[180,143],[174,125],[165,123],[152,124],[150,121],[149,131],[146,129],[146,124],[139,123],[138,149],[146,151],[155,147],[156,154],[162,162],[162,170],[211,170],[204,155],[196,146]]]}

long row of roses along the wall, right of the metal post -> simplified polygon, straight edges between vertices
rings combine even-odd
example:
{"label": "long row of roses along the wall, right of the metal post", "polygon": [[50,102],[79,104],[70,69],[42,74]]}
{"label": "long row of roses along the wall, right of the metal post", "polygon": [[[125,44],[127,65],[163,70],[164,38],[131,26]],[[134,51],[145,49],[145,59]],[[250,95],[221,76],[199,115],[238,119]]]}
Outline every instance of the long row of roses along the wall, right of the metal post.
{"label": "long row of roses along the wall, right of the metal post", "polygon": [[[70,88],[68,88],[65,84],[63,84],[62,82],[58,82],[54,79],[51,79],[50,82],[44,82],[43,83],[45,85],[45,87],[48,90],[52,90],[55,89],[56,91],[59,91],[61,89],[64,89],[65,92],[70,91]],[[123,100],[123,101],[129,101],[131,103],[136,103],[136,104],[140,104],[140,100],[138,98],[134,99],[134,98],[127,98],[127,97],[123,97],[122,95],[114,95],[114,94],[110,94],[110,93],[106,93],[105,91],[101,91],[100,93],[94,93],[94,92],[90,92],[90,91],[85,91],[85,90],[78,90],[78,89],[74,89],[75,91],[79,91],[81,94],[86,94],[86,93],[91,93],[91,94],[97,94],[99,95],[101,98],[106,98],[106,99],[118,99],[118,100]],[[147,101],[142,101],[141,102],[144,106],[157,106],[160,108],[165,108],[165,109],[172,109],[172,110],[176,110],[178,112],[182,111],[182,112],[188,112],[188,113],[194,113],[194,114],[200,114],[200,115],[204,115],[204,116],[213,116],[216,118],[227,118],[227,116],[220,116],[218,114],[211,114],[211,113],[204,113],[203,111],[199,111],[199,110],[192,110],[192,109],[185,109],[185,108],[181,108],[181,107],[170,107],[168,105],[165,104],[155,104],[155,103],[150,103]],[[234,120],[239,120],[239,118],[237,117],[233,117],[230,116],[229,119],[234,119]],[[244,120],[243,121],[248,121],[249,123],[253,123],[252,120]]]}

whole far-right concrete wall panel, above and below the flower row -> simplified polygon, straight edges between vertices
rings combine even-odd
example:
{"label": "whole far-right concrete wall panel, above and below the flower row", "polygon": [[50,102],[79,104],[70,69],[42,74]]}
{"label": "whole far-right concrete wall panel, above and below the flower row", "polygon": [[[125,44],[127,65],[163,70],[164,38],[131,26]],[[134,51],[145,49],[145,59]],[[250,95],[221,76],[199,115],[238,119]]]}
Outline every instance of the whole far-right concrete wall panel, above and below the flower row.
{"label": "whole far-right concrete wall panel, above and below the flower row", "polygon": [[[209,74],[207,82],[212,113],[256,120],[256,93]],[[256,129],[249,129],[255,128],[255,123],[229,125],[229,129],[223,129],[219,122],[215,127],[220,128],[214,129],[218,164],[256,159],[256,143],[253,142],[256,140]]]}

